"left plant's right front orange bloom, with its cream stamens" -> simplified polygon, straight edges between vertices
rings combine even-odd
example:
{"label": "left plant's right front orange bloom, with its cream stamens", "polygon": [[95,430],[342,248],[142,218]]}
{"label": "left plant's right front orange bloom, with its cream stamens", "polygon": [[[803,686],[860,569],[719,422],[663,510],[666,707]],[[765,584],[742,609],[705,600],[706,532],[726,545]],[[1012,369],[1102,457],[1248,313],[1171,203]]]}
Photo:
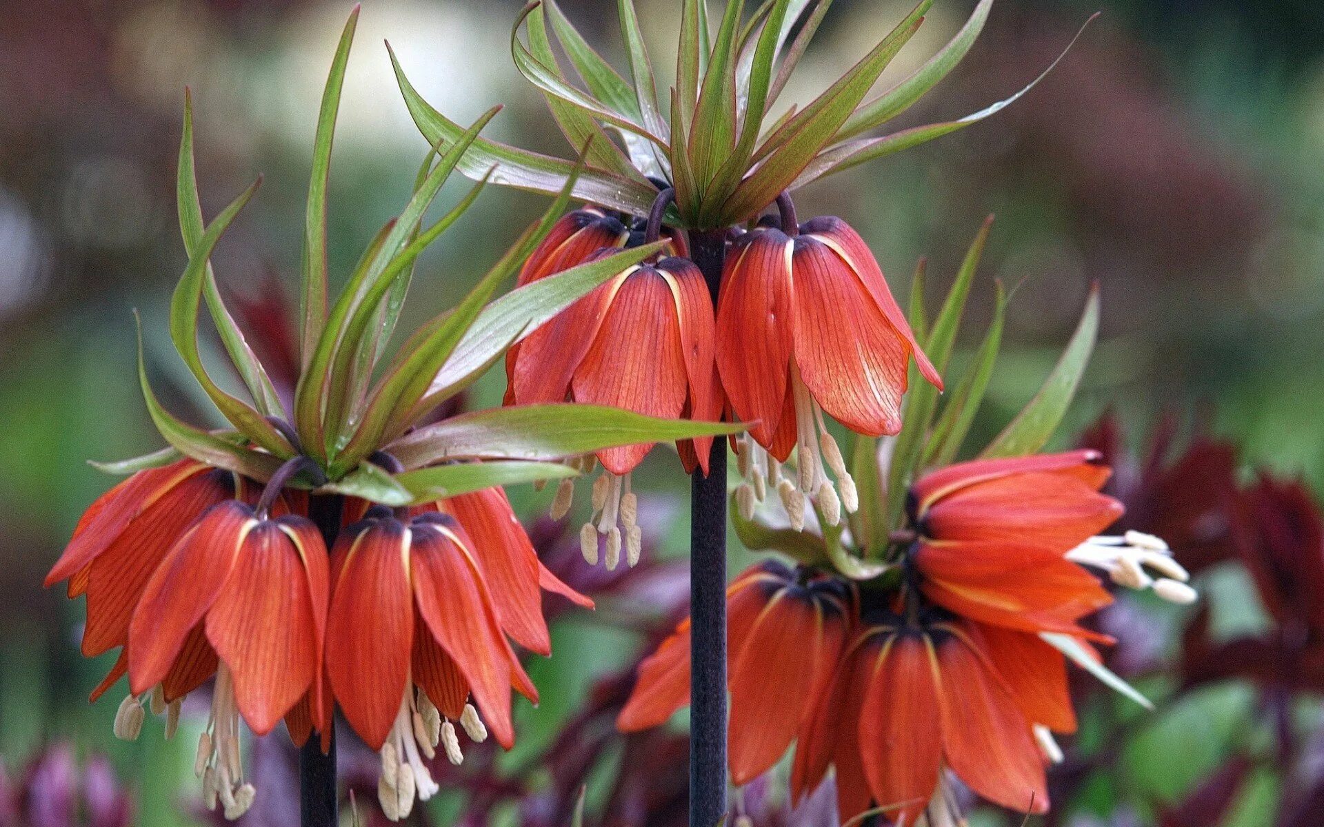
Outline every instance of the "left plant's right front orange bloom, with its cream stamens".
{"label": "left plant's right front orange bloom, with its cream stamens", "polygon": [[[506,748],[515,740],[511,685],[538,699],[506,639],[511,619],[489,582],[495,566],[474,549],[449,513],[396,519],[381,507],[342,531],[334,549],[327,675],[350,725],[381,752],[377,791],[392,818],[438,789],[420,754],[430,758],[441,744],[459,762],[453,721],[486,737],[470,695]],[[523,577],[539,582],[536,572]]]}

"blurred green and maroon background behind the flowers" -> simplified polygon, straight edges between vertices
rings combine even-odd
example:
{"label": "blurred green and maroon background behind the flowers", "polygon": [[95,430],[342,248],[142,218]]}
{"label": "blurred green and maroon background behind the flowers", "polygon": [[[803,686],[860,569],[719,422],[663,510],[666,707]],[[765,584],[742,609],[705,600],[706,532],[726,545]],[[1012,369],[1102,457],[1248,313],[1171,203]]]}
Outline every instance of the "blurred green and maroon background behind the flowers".
{"label": "blurred green and maroon background behind the flowers", "polygon": [[[343,275],[404,202],[426,151],[381,38],[449,116],[466,123],[503,102],[490,136],[568,153],[508,61],[519,5],[365,3],[332,164],[332,273]],[[561,5],[621,65],[614,3]],[[654,64],[671,65],[677,3],[638,5]],[[972,5],[940,0],[888,77],[923,61]],[[816,94],[906,11],[904,0],[835,0],[782,102]],[[1030,396],[1098,281],[1103,337],[1070,433],[1112,408],[1140,442],[1164,412],[1176,412],[1237,443],[1243,466],[1303,475],[1317,490],[1324,486],[1324,7],[998,0],[967,64],[904,118],[928,122],[1005,97],[1094,11],[1103,17],[1016,106],[952,138],[834,176],[804,192],[800,213],[851,221],[898,294],[927,255],[935,296],[980,221],[996,213],[967,333],[973,339],[988,318],[993,278],[1021,287],[974,438],[996,433]],[[207,213],[256,172],[267,179],[213,259],[230,300],[260,320],[278,307],[298,266],[315,110],[346,12],[339,0],[0,4],[0,763],[8,767],[0,779],[23,777],[33,756],[49,762],[48,748],[68,742],[82,757],[110,756],[138,823],[192,823],[191,742],[164,744],[152,726],[136,744],[114,742],[115,701],[86,704],[109,662],[79,658],[81,602],[42,591],[40,581],[77,516],[110,482],[83,460],[159,446],[132,380],[131,307],[143,311],[155,336],[148,359],[158,386],[173,388],[164,394],[169,405],[185,412],[197,401],[192,382],[171,382],[184,378],[184,368],[169,353],[164,327],[167,296],[185,263],[172,185],[184,86],[196,102]],[[534,196],[489,189],[421,263],[414,312],[453,302],[542,206]],[[278,336],[271,339],[279,348]],[[470,404],[499,404],[500,390],[502,377],[493,374]],[[682,503],[685,480],[674,463],[649,467],[651,474],[636,479],[659,507]],[[531,516],[549,498],[515,495]],[[683,556],[683,517],[665,524],[653,553]],[[1215,615],[1221,598],[1233,618],[1226,622],[1255,623],[1245,577],[1219,581],[1210,597]],[[667,609],[659,601],[657,613]],[[1141,634],[1165,629],[1170,634],[1156,648],[1172,659],[1174,619]],[[520,708],[519,750],[528,754],[553,741],[594,676],[630,663],[638,647],[637,635],[583,613],[567,613],[555,640],[556,656],[536,664],[545,703]],[[1164,679],[1156,680],[1161,691]],[[1099,782],[1107,790],[1086,791],[1096,815],[1112,820],[1078,823],[1158,823],[1153,802],[1177,801],[1218,770],[1251,697],[1246,685],[1222,683],[1135,722],[1139,734],[1125,746],[1123,769]],[[1315,707],[1299,715],[1307,730],[1315,728]],[[195,729],[203,718],[192,721]],[[502,761],[514,765],[519,754]],[[1239,786],[1239,803],[1223,823],[1275,823],[1284,783],[1262,773]],[[1136,820],[1115,820],[1121,805]],[[455,810],[442,803],[434,815],[448,822]]]}

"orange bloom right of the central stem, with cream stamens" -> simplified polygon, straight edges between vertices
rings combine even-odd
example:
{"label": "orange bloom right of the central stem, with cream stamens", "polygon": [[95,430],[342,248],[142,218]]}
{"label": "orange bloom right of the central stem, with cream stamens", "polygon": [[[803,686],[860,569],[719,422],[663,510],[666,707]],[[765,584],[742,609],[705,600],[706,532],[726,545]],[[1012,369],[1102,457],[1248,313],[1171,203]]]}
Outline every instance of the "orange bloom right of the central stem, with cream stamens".
{"label": "orange bloom right of the central stem, with cream stamens", "polygon": [[943,386],[873,253],[839,218],[808,221],[794,237],[759,228],[736,239],[727,251],[716,323],[723,390],[769,454],[741,467],[751,483],[769,475],[769,463],[771,476],[780,478],[777,463],[798,449],[796,484],[773,480],[797,525],[805,498],[818,501],[830,521],[841,505],[858,507],[825,413],[859,434],[900,431],[912,356],[924,378]]}

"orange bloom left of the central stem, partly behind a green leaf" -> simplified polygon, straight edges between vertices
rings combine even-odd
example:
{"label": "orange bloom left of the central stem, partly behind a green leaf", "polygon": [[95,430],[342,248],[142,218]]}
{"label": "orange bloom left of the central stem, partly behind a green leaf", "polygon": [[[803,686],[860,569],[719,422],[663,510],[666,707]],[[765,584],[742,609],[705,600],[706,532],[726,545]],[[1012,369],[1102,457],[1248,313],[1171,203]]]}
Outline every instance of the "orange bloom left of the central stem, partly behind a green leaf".
{"label": "orange bloom left of the central stem, partly behind a green leaf", "polygon": [[[722,396],[712,348],[712,300],[699,269],[675,257],[636,265],[520,343],[507,361],[507,401],[573,401],[650,417],[718,419]],[[707,472],[710,445],[711,438],[682,445],[686,467]],[[641,532],[630,472],[651,447],[597,453],[606,474],[593,486],[596,519],[581,532],[591,564],[597,562],[597,535],[606,537],[608,568],[616,568],[622,546],[630,565],[638,561]],[[569,508],[571,491],[567,480],[553,505],[556,516]]]}

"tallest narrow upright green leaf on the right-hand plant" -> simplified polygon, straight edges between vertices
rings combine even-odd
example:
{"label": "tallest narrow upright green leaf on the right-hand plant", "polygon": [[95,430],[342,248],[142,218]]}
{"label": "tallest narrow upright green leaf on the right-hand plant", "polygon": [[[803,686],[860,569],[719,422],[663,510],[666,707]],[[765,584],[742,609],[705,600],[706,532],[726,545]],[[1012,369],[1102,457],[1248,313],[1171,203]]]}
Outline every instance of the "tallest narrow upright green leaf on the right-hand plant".
{"label": "tallest narrow upright green leaf on the right-hand plant", "polygon": [[[933,320],[933,329],[922,340],[924,341],[924,353],[928,355],[929,361],[937,368],[939,374],[945,373],[947,363],[952,356],[956,332],[960,329],[961,316],[965,314],[965,300],[969,298],[974,273],[984,255],[984,246],[988,243],[992,222],[993,217],[989,216],[984,221],[984,225],[980,226],[978,233],[974,234],[974,241],[970,242],[969,250],[965,251],[965,259],[961,261],[956,279],[952,282],[952,287],[947,292],[947,299],[943,302],[943,310],[939,312],[937,319]],[[923,457],[924,445],[928,441],[928,429],[933,421],[933,413],[937,410],[937,388],[923,381],[919,370],[915,368],[910,370],[910,381],[912,382],[911,390],[906,394],[906,401],[902,405],[902,422],[904,425],[902,426],[902,433],[896,435],[896,446],[887,476],[887,515],[890,527],[899,524],[906,492],[920,470],[919,463]]]}

